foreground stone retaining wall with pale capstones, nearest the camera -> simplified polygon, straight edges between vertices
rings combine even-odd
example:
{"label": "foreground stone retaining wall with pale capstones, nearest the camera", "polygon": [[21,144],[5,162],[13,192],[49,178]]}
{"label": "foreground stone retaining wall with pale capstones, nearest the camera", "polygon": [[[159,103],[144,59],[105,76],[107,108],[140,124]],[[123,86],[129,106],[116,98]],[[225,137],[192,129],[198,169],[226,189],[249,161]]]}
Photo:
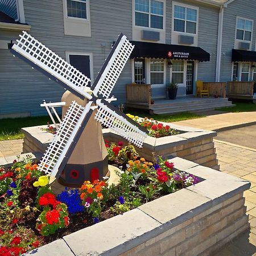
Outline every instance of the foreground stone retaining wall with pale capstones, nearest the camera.
{"label": "foreground stone retaining wall with pale capstones, nearest the camera", "polygon": [[181,158],[175,167],[203,181],[64,236],[28,254],[210,255],[249,228],[249,181]]}

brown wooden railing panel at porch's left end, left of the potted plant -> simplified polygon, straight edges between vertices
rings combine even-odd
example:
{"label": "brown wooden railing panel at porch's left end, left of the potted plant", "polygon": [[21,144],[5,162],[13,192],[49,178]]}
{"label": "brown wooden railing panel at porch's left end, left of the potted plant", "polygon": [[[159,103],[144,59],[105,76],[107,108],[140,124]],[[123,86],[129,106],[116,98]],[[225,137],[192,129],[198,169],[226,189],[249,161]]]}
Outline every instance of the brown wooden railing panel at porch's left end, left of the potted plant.
{"label": "brown wooden railing panel at porch's left end, left of the potted plant", "polygon": [[150,104],[151,89],[150,84],[127,84],[127,102],[139,102]]}

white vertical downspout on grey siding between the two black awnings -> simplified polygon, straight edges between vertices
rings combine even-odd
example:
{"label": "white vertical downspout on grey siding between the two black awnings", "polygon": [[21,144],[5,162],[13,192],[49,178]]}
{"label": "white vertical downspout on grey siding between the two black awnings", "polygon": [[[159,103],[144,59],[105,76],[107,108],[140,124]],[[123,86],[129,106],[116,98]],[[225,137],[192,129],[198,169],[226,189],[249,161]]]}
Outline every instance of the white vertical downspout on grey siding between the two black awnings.
{"label": "white vertical downspout on grey siding between the two black awnings", "polygon": [[216,82],[220,82],[223,17],[224,17],[224,7],[221,6],[220,11],[218,13],[218,39],[217,39],[217,59],[216,59],[216,76],[215,76]]}

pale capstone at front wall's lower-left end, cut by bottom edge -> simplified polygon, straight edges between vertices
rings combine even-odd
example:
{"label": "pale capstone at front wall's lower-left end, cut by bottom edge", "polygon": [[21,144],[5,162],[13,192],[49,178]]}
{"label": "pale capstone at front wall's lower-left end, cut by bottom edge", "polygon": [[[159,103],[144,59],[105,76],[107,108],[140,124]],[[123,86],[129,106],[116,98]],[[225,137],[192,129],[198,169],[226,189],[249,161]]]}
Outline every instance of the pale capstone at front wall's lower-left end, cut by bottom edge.
{"label": "pale capstone at front wall's lower-left end, cut by bottom edge", "polygon": [[36,255],[36,256],[74,256],[71,249],[68,247],[67,243],[63,239],[59,239],[48,243],[42,247],[36,248],[32,251],[29,251],[25,255]]}

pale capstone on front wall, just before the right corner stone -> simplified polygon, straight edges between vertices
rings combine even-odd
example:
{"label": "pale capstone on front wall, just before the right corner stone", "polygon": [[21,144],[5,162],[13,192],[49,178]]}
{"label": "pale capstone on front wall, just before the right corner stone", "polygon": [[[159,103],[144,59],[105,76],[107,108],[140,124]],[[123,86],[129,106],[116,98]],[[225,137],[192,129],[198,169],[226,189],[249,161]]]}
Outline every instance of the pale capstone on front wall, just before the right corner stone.
{"label": "pale capstone on front wall, just before the right corner stone", "polygon": [[161,197],[147,204],[141,205],[139,209],[164,224],[180,224],[200,212],[210,208],[210,202],[205,196],[198,195],[188,189],[181,189],[175,193]]}

